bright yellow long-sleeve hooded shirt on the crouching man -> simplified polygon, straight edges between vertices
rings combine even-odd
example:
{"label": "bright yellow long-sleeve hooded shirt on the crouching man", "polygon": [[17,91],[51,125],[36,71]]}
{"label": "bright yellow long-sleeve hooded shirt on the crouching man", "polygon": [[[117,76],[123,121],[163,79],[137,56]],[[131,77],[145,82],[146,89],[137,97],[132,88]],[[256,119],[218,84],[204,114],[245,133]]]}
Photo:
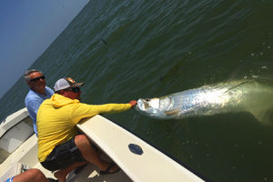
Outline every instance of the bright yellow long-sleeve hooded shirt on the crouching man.
{"label": "bright yellow long-sleeve hooded shirt on the crouching man", "polygon": [[46,99],[37,113],[38,160],[45,161],[54,147],[76,136],[76,124],[82,118],[122,112],[129,108],[130,104],[86,105],[58,94]]}

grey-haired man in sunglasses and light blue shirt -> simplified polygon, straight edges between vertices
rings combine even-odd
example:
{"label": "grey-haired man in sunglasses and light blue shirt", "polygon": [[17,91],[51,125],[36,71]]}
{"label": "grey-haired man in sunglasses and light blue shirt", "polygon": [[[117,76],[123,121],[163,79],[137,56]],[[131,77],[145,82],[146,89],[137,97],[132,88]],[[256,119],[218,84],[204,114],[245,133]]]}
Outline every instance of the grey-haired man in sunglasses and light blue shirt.
{"label": "grey-haired man in sunglasses and light blue shirt", "polygon": [[24,78],[30,88],[25,96],[25,107],[33,121],[35,134],[37,135],[36,115],[39,106],[45,99],[50,98],[54,94],[54,91],[45,86],[45,76],[39,70],[27,70],[24,74]]}

